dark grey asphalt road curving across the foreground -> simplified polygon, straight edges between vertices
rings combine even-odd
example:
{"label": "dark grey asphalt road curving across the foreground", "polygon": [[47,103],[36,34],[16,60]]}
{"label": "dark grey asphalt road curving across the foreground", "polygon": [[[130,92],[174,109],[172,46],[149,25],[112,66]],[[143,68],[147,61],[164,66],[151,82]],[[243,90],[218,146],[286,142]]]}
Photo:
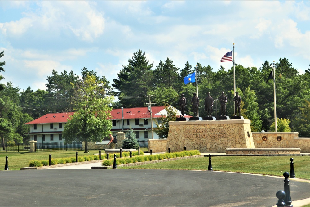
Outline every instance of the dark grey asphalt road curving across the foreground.
{"label": "dark grey asphalt road curving across the foreground", "polygon": [[[274,206],[283,180],[187,170],[1,171],[0,206]],[[290,179],[292,200],[309,193],[309,183]]]}

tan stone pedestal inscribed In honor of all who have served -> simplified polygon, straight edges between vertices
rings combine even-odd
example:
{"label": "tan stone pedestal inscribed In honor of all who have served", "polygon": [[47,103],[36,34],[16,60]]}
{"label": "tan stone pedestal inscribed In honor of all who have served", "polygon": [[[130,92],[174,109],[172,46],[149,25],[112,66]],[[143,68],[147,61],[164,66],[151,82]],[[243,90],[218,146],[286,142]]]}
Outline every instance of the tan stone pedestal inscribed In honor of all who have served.
{"label": "tan stone pedestal inscribed In honor of all who have served", "polygon": [[166,152],[199,150],[225,152],[226,148],[255,148],[250,120],[170,121]]}

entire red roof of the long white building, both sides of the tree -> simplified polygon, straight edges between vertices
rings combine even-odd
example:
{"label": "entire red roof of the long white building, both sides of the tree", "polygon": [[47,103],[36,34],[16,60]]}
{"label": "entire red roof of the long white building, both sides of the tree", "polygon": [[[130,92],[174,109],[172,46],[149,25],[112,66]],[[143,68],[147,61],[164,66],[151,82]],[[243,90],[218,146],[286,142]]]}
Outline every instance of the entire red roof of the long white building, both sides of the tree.
{"label": "entire red roof of the long white building, both sides of the tree", "polygon": [[[72,116],[73,114],[74,112],[47,114],[26,124],[49,124],[67,122],[69,116]],[[122,109],[113,109],[110,114],[112,118],[108,119],[122,119]],[[160,118],[164,114],[166,114],[165,106],[152,106],[153,118]],[[124,119],[150,118],[150,112],[148,110],[148,107],[124,108],[123,115]],[[189,118],[192,116],[184,115],[184,117]]]}

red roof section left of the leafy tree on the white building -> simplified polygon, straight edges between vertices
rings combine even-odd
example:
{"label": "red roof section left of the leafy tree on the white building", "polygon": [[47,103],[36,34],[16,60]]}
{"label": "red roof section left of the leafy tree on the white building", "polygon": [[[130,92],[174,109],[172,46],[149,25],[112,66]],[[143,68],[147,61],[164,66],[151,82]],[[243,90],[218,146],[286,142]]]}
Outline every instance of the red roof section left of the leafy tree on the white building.
{"label": "red roof section left of the leafy tree on the white building", "polygon": [[67,119],[69,119],[69,116],[72,116],[73,114],[74,112],[47,114],[26,124],[65,123],[67,122]]}

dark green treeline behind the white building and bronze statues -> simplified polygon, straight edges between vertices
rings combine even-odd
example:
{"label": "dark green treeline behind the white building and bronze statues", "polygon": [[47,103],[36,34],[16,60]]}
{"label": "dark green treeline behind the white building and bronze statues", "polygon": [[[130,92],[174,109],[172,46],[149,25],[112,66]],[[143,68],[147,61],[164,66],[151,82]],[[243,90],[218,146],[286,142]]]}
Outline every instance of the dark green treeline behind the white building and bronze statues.
{"label": "dark green treeline behind the white building and bronze statues", "polygon": [[[4,54],[1,52],[1,57]],[[1,63],[1,71],[5,61]],[[87,74],[95,75],[96,79],[103,82],[104,96],[114,95],[118,101],[113,108],[144,107],[149,101],[153,106],[169,104],[179,109],[180,94],[187,99],[185,113],[193,115],[190,100],[196,92],[196,84],[184,84],[183,78],[196,71],[198,73],[198,97],[200,98],[199,116],[206,116],[204,112],[204,99],[207,92],[215,101],[213,116],[220,115],[219,101],[216,101],[224,91],[228,98],[227,114],[234,114],[233,98],[233,67],[225,70],[222,66],[214,70],[210,65],[195,66],[184,64],[180,69],[173,64],[173,60],[166,58],[160,61],[152,70],[145,53],[141,50],[135,52],[117,78],[110,83],[105,76],[101,78],[93,70],[82,68],[82,79]],[[299,137],[310,137],[310,69],[305,68],[304,74],[293,67],[286,58],[279,58],[275,63],[276,71],[276,103],[277,118],[289,119],[293,132],[299,132]],[[6,68],[9,70],[9,67]],[[274,122],[273,107],[273,80],[266,80],[272,70],[272,65],[265,61],[259,68],[245,68],[241,64],[235,65],[236,91],[241,96],[241,115],[251,120],[253,132],[267,131]],[[0,77],[3,79],[4,77]],[[79,81],[78,75],[73,71],[60,72],[53,70],[47,77],[46,90],[33,91],[28,87],[20,92],[19,87],[13,83],[0,84],[0,136],[1,143],[28,142],[28,126],[23,125],[33,119],[51,112],[74,111],[71,100],[73,86],[71,83]],[[3,80],[2,80],[3,82]]]}

